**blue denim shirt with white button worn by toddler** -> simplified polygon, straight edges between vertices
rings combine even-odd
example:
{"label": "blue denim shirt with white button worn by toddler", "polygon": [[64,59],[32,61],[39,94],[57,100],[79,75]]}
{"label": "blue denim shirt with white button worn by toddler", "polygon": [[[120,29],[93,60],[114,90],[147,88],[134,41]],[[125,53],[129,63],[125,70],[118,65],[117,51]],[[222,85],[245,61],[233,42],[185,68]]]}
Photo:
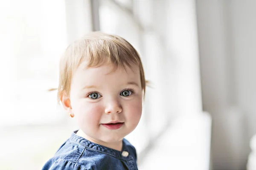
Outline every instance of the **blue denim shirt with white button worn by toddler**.
{"label": "blue denim shirt with white button worn by toddler", "polygon": [[137,170],[134,146],[122,140],[122,151],[90,142],[73,132],[42,170]]}

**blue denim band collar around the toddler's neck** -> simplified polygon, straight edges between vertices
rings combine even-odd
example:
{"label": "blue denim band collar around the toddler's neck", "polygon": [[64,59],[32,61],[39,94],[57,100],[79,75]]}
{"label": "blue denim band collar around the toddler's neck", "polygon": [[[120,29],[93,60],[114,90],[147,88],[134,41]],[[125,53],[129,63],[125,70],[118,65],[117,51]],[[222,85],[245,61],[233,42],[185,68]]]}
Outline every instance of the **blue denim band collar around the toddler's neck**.
{"label": "blue denim band collar around the toddler's neck", "polygon": [[101,153],[106,153],[106,154],[115,156],[116,158],[119,158],[119,159],[128,159],[128,157],[122,156],[123,151],[128,151],[127,144],[129,144],[129,143],[128,143],[127,140],[125,140],[125,139],[122,140],[122,151],[120,152],[118,150],[114,150],[114,149],[111,149],[109,147],[105,147],[105,146],[102,146],[100,144],[90,142],[87,139],[84,139],[83,137],[76,135],[77,131],[78,130],[74,131],[71,134],[71,136],[70,136],[70,141],[71,142],[75,142],[77,144],[84,145],[85,147],[89,147],[89,148],[91,148],[93,150],[97,150]]}

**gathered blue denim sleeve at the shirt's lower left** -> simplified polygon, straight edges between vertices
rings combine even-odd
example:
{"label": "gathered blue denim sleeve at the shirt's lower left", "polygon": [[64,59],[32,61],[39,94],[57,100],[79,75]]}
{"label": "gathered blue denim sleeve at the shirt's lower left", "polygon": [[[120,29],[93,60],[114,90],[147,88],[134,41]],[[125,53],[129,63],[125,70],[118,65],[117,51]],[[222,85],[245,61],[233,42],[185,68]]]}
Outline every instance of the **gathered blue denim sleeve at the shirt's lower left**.
{"label": "gathered blue denim sleeve at the shirt's lower left", "polygon": [[42,170],[91,170],[91,169],[84,169],[79,164],[76,164],[71,161],[65,161],[58,159],[56,161],[48,161],[44,164]]}

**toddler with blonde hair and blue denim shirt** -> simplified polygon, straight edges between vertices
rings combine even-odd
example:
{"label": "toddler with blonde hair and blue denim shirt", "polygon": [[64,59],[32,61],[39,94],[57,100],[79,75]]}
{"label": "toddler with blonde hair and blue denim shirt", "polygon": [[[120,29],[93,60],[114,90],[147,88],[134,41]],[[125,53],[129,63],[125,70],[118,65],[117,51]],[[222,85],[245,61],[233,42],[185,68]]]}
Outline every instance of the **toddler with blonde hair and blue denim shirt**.
{"label": "toddler with blonde hair and blue denim shirt", "polygon": [[60,61],[58,102],[79,130],[43,170],[137,170],[137,155],[124,137],[140,121],[145,77],[133,46],[93,32],[67,47]]}

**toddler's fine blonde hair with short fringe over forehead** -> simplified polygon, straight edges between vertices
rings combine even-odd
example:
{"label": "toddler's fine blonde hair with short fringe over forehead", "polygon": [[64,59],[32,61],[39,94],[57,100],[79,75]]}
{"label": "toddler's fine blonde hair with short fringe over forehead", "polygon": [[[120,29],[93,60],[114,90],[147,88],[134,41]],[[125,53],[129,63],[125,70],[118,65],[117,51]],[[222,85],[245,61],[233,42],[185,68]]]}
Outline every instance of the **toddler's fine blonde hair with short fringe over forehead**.
{"label": "toddler's fine blonde hair with short fringe over forehead", "polygon": [[145,94],[146,80],[143,65],[138,52],[125,39],[117,35],[92,32],[71,43],[60,60],[58,103],[64,92],[70,96],[71,79],[81,62],[88,61],[88,67],[103,65],[106,61],[113,68],[125,65],[131,68],[137,65],[140,69],[140,80]]}

